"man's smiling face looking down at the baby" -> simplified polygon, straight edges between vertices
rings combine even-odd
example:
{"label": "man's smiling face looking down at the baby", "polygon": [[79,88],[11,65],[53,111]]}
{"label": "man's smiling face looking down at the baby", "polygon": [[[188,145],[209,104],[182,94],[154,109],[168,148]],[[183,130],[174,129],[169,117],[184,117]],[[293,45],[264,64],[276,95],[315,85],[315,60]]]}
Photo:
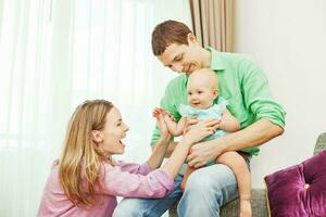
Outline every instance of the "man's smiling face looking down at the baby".
{"label": "man's smiling face looking down at the baby", "polygon": [[195,69],[202,67],[197,49],[198,44],[193,42],[189,44],[172,43],[161,55],[158,55],[158,59],[174,72],[191,74]]}

